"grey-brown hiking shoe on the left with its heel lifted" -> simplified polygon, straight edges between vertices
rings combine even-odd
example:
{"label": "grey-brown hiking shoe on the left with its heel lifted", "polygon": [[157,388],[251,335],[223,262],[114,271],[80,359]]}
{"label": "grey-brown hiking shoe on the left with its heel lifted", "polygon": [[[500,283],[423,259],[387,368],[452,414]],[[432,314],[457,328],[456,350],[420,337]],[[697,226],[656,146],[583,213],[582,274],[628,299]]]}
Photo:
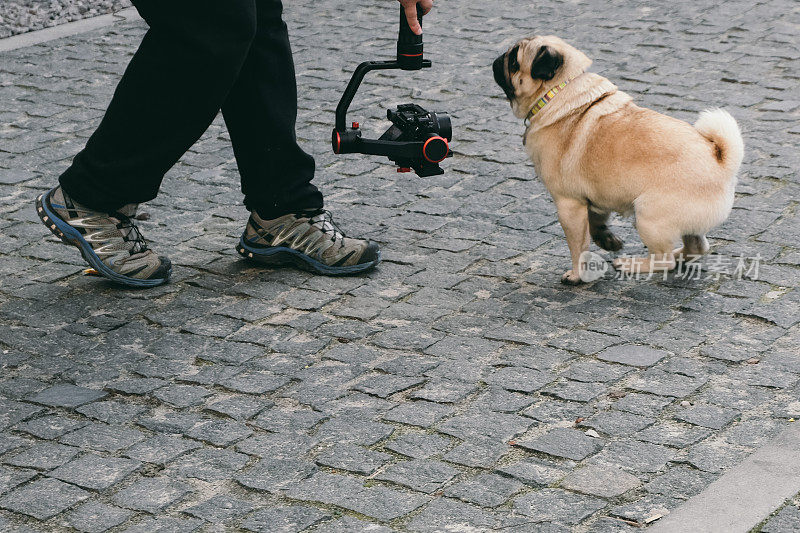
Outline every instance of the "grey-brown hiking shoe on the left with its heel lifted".
{"label": "grey-brown hiking shoe on the left with its heel lifted", "polygon": [[169,279],[172,264],[147,248],[135,224],[137,207],[93,211],[73,201],[60,186],[36,199],[44,225],[65,244],[77,246],[98,274],[131,287],[155,287]]}

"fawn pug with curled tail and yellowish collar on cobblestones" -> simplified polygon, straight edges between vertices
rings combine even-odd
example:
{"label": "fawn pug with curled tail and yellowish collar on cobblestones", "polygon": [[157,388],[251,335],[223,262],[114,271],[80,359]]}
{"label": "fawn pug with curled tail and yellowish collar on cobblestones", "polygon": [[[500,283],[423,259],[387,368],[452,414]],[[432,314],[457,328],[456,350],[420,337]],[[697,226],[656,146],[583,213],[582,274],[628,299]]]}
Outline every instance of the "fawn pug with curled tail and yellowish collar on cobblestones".
{"label": "fawn pug with curled tail and yellowish collar on cobblestones", "polygon": [[733,206],[744,153],[738,124],[721,109],[703,111],[692,126],[639,107],[586,72],[591,64],[554,36],[522,39],[493,64],[514,115],[525,119],[523,143],[567,238],[572,269],[562,282],[581,283],[590,240],[622,248],[607,226],[612,212],[635,216],[650,254],[617,258],[618,270],[672,270],[676,260],[705,254],[706,233]]}

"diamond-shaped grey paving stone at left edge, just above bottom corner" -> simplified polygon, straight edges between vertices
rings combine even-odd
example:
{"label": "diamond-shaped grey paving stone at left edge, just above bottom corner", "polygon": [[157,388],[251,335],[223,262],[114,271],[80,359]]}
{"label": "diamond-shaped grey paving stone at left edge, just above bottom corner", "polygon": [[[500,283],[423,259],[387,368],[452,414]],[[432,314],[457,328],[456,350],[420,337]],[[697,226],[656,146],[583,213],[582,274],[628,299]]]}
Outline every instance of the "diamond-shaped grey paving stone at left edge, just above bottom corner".
{"label": "diamond-shaped grey paving stone at left edge, just above bottom corner", "polygon": [[0,498],[0,507],[47,520],[88,497],[89,493],[78,487],[57,479],[42,478]]}

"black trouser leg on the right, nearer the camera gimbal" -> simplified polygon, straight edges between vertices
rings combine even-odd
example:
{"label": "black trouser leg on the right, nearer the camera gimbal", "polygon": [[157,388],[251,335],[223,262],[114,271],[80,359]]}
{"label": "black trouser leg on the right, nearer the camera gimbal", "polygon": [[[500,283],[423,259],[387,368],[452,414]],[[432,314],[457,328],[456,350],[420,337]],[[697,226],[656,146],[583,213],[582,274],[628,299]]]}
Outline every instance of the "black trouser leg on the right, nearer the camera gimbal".
{"label": "black trouser leg on the right, nearer the camera gimbal", "polygon": [[245,206],[264,219],[320,209],[314,159],[298,145],[297,84],[280,0],[255,0],[257,30],[222,105],[242,179]]}

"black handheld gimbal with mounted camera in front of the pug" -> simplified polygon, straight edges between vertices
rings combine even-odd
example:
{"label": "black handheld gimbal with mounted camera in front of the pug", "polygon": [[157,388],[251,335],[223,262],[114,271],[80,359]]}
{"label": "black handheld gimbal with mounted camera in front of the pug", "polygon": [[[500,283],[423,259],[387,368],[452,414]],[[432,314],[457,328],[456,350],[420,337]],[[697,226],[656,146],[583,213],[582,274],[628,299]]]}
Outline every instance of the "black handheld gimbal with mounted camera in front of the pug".
{"label": "black handheld gimbal with mounted camera in front of the pug", "polygon": [[[417,8],[417,18],[422,24],[422,11],[419,6]],[[414,169],[421,177],[444,174],[439,163],[453,155],[449,144],[453,129],[446,113],[428,112],[416,104],[400,105],[395,111],[388,110],[387,116],[392,126],[379,139],[363,138],[358,122],[347,127],[347,108],[367,72],[430,68],[431,62],[423,59],[422,54],[422,36],[411,31],[401,8],[397,60],[361,63],[353,72],[353,77],[339,100],[336,107],[336,127],[331,137],[335,154],[385,155],[397,164],[398,172],[410,172]]]}

